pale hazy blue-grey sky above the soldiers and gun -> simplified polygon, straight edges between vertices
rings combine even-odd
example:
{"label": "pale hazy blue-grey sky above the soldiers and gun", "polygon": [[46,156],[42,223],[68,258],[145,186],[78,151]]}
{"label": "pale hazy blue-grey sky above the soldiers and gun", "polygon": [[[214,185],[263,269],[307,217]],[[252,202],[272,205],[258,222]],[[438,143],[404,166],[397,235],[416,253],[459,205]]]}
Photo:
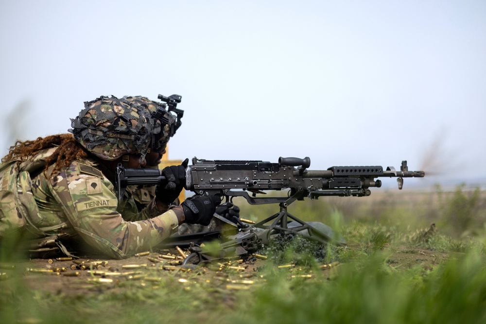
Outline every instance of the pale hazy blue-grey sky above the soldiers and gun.
{"label": "pale hazy blue-grey sky above the soldiers and gun", "polygon": [[0,155],[100,95],[179,94],[171,159],[486,179],[485,57],[486,1],[1,1]]}

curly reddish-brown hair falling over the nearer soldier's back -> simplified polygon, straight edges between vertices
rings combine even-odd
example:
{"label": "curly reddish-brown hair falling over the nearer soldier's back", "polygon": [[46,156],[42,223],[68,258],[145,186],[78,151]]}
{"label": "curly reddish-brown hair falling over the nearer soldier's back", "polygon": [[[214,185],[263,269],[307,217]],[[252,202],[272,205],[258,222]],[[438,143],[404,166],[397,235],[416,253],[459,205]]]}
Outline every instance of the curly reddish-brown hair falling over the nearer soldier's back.
{"label": "curly reddish-brown hair falling over the nearer soldier's back", "polygon": [[46,174],[47,169],[53,163],[56,164],[51,173],[51,178],[61,171],[62,168],[69,167],[73,160],[87,158],[89,156],[86,149],[74,139],[72,134],[68,133],[37,137],[35,140],[26,140],[23,142],[17,141],[14,146],[10,147],[9,153],[1,159],[1,162],[5,163],[12,159],[27,161],[35,153],[52,147],[57,147],[57,149],[46,159],[47,163],[44,168],[44,174]]}

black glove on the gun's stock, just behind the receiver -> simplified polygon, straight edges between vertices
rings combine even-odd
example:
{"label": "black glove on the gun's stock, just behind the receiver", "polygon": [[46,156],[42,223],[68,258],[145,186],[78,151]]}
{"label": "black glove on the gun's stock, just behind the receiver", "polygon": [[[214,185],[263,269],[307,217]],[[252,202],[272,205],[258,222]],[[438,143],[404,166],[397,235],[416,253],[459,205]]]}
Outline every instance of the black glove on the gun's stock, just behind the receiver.
{"label": "black glove on the gun's stock, just behind the receiver", "polygon": [[186,181],[186,168],[188,163],[189,159],[185,159],[181,165],[165,167],[162,170],[162,175],[165,176],[167,183],[165,185],[158,185],[156,188],[155,195],[159,201],[170,204],[179,197]]}

